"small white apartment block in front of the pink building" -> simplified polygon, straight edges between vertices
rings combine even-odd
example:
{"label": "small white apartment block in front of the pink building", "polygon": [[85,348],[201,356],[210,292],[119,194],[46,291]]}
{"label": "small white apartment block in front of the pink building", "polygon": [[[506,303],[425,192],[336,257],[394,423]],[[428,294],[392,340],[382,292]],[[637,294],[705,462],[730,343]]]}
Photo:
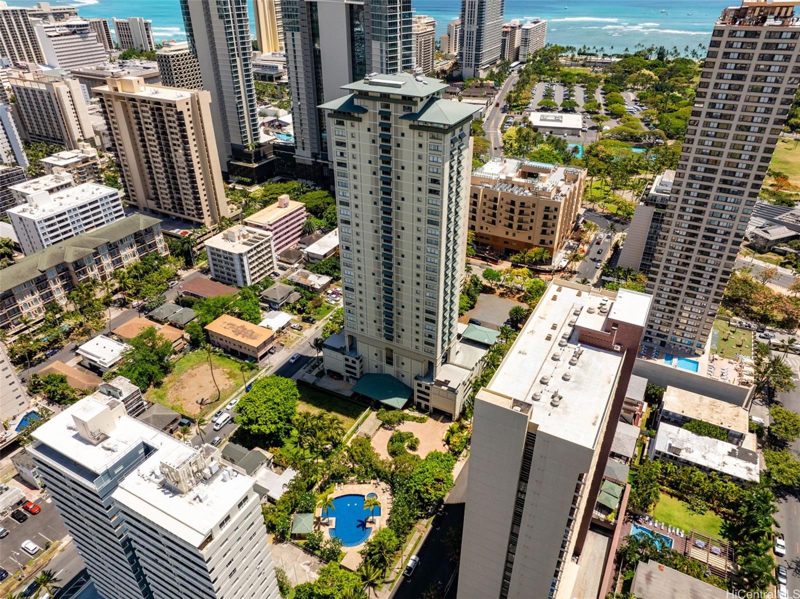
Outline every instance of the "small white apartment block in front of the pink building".
{"label": "small white apartment block in front of the pink building", "polygon": [[206,241],[211,278],[237,287],[250,286],[278,270],[272,234],[235,225]]}

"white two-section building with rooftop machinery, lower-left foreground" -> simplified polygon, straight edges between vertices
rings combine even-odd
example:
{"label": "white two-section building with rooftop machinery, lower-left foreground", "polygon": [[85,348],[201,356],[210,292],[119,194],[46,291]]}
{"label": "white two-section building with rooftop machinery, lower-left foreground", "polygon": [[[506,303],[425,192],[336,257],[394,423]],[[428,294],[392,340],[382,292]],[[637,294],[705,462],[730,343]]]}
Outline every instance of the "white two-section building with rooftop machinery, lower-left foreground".
{"label": "white two-section building with rooftop machinery, lower-left foreground", "polygon": [[95,393],[28,451],[98,592],[114,599],[277,599],[254,479]]}

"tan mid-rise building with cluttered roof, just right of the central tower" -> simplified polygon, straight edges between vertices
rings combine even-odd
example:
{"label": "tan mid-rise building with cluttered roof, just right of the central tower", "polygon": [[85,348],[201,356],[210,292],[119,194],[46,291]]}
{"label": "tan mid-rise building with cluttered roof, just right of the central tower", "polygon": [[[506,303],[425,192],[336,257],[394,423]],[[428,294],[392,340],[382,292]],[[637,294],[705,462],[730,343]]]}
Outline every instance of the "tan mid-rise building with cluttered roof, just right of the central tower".
{"label": "tan mid-rise building with cluttered roof, just right of the central tower", "polygon": [[570,238],[586,170],[494,158],[472,173],[470,231],[501,254],[542,247],[555,254]]}

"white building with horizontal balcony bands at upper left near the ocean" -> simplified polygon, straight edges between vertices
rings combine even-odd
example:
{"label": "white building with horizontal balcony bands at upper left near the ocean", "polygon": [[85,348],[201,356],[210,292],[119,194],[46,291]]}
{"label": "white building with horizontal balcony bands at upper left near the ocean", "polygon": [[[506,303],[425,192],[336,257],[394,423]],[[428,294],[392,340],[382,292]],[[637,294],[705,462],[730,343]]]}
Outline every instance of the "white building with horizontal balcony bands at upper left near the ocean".
{"label": "white building with horizontal balcony bands at upper left near the ocean", "polygon": [[82,18],[50,23],[34,22],[44,62],[59,69],[78,69],[106,62],[106,46],[88,21]]}

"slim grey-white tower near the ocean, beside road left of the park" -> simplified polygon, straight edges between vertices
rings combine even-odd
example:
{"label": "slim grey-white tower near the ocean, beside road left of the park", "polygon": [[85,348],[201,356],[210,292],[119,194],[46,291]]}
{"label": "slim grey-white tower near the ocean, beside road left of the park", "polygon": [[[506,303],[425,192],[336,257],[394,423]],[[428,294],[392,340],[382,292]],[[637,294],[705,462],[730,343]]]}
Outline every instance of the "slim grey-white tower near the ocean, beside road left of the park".
{"label": "slim grey-white tower near the ocean, beside road left of the park", "polygon": [[500,60],[503,0],[461,0],[463,77],[484,77]]}

